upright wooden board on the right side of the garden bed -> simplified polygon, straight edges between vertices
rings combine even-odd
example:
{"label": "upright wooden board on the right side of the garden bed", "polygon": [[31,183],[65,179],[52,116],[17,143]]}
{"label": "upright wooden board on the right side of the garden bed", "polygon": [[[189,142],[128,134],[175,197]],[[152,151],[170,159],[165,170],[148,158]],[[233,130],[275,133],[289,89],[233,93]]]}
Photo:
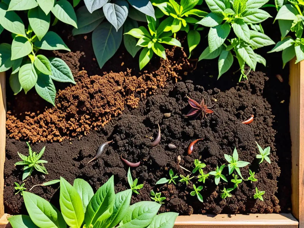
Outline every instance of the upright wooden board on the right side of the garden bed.
{"label": "upright wooden board on the right side of the garden bed", "polygon": [[304,61],[290,62],[289,122],[292,142],[292,214],[304,228]]}

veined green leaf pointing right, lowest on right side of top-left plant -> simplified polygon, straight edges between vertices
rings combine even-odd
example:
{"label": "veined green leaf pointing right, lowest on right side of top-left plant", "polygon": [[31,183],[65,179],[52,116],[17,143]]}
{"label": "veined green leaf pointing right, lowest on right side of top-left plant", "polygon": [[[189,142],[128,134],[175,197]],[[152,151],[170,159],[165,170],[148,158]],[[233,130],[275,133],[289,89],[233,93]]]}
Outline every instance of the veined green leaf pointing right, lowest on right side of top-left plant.
{"label": "veined green leaf pointing right, lowest on right side of top-left plant", "polygon": [[73,74],[68,65],[64,62],[64,60],[60,58],[50,58],[50,64],[52,71],[50,77],[53,80],[76,84],[76,82],[74,81]]}

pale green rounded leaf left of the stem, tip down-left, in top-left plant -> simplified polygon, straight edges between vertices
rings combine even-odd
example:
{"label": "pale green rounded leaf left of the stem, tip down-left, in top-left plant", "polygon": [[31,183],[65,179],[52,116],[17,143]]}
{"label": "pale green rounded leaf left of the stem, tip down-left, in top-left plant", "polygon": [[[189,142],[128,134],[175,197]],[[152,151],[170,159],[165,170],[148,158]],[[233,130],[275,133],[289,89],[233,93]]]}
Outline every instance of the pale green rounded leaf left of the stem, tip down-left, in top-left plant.
{"label": "pale green rounded leaf left of the stem, tip down-left, in top-left plant", "polygon": [[11,60],[19,59],[27,56],[33,50],[31,42],[26,37],[15,36],[12,42],[12,56]]}

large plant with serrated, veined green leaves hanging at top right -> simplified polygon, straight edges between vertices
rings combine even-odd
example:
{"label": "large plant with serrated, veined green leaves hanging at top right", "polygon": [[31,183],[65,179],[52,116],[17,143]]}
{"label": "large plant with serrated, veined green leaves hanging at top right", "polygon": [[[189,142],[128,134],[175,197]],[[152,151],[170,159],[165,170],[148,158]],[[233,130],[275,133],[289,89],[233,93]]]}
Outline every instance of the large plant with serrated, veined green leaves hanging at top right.
{"label": "large plant with serrated, veined green leaves hanging at top right", "polygon": [[[268,36],[262,32],[250,30],[248,25],[255,25],[271,17],[266,11],[259,9],[268,0],[235,0],[229,2],[226,0],[207,0],[206,3],[211,10],[206,17],[197,22],[203,26],[210,27],[208,34],[209,46],[203,51],[199,60],[214,59],[219,56],[218,78],[224,74],[233,64],[233,54],[240,65],[242,77],[247,79],[244,72],[245,63],[250,70],[255,71],[257,63],[266,65],[266,60],[256,54],[254,49],[275,44]],[[237,38],[229,41],[229,45],[224,42],[227,39],[231,27]],[[253,26],[251,26],[252,28]]]}

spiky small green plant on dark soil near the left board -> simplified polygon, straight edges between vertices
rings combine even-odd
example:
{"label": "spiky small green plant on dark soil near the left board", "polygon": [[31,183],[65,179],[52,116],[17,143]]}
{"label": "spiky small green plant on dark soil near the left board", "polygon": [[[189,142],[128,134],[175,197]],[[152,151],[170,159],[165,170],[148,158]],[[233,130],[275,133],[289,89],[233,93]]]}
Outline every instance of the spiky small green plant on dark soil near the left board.
{"label": "spiky small green plant on dark soil near the left board", "polygon": [[28,142],[26,142],[26,144],[29,147],[29,156],[25,156],[17,152],[22,161],[18,161],[15,163],[15,165],[25,165],[25,167],[23,168],[22,181],[32,174],[34,168],[39,172],[48,174],[47,169],[43,165],[43,163],[47,163],[47,161],[39,160],[44,153],[45,147],[43,147],[39,154],[37,154],[36,152],[32,151],[32,148],[30,147]]}

